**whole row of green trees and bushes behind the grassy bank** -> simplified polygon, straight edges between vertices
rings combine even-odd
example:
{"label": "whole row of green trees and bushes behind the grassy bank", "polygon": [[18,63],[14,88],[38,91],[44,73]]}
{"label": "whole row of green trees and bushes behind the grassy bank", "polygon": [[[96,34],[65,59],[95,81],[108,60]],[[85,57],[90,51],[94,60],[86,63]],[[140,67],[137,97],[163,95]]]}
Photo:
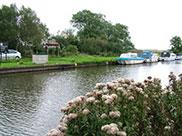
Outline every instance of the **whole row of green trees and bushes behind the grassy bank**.
{"label": "whole row of green trees and bushes behind the grassy bank", "polygon": [[74,29],[65,29],[52,35],[40,21],[35,11],[16,4],[0,8],[0,42],[8,47],[26,53],[44,51],[43,44],[56,40],[62,56],[86,53],[89,55],[113,56],[134,49],[128,27],[112,24],[103,14],[82,10],[73,14],[70,21]]}

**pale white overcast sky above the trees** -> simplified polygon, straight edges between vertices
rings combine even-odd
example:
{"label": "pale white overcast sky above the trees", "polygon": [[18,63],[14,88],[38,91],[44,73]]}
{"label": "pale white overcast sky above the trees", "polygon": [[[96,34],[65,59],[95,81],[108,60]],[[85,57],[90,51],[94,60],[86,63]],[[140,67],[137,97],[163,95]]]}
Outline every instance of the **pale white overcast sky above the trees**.
{"label": "pale white overcast sky above the trees", "polygon": [[128,26],[137,49],[167,50],[173,36],[182,36],[182,0],[0,0],[34,10],[50,33],[72,28],[73,14],[84,9]]}

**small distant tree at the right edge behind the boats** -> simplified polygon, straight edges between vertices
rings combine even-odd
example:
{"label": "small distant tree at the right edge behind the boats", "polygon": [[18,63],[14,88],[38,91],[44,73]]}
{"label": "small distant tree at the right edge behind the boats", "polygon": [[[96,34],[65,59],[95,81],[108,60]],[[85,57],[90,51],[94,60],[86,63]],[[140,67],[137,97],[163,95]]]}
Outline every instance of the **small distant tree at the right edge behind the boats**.
{"label": "small distant tree at the right edge behind the boats", "polygon": [[171,51],[174,53],[180,53],[182,52],[182,40],[179,36],[174,36],[170,40],[171,45]]}

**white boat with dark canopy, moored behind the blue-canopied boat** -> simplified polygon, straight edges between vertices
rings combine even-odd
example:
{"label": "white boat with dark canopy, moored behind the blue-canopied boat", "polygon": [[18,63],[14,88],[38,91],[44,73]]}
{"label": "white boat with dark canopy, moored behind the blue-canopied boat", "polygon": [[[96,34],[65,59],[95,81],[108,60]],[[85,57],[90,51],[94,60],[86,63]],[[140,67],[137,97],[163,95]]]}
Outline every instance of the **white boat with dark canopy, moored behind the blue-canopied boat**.
{"label": "white boat with dark canopy, moored behind the blue-canopied boat", "polygon": [[164,51],[161,53],[160,61],[173,61],[176,59],[176,54]]}

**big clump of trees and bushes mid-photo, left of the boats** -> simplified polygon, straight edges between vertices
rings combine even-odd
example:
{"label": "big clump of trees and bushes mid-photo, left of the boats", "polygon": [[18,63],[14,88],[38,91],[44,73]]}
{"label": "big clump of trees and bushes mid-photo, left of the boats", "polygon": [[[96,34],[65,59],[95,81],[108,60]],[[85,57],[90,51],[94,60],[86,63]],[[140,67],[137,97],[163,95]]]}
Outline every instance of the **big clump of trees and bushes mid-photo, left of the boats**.
{"label": "big clump of trees and bushes mid-photo, left of the boats", "polygon": [[111,52],[120,55],[134,49],[128,27],[119,23],[113,25],[105,20],[105,15],[83,10],[73,15],[71,23],[78,29],[80,52],[91,55]]}

